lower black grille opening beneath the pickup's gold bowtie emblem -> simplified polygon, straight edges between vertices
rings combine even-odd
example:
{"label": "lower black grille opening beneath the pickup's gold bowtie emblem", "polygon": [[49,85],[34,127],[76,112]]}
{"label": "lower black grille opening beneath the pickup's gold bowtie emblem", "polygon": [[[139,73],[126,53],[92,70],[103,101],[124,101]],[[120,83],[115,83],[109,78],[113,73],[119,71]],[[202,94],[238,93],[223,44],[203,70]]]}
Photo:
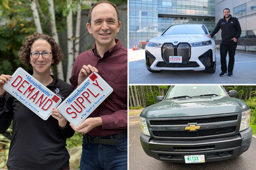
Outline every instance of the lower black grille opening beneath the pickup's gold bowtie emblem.
{"label": "lower black grille opening beneath the pickup's gold bowtie emblem", "polygon": [[204,137],[211,135],[222,135],[226,133],[233,133],[236,131],[236,127],[224,127],[218,129],[198,130],[194,132],[190,131],[153,131],[156,137]]}

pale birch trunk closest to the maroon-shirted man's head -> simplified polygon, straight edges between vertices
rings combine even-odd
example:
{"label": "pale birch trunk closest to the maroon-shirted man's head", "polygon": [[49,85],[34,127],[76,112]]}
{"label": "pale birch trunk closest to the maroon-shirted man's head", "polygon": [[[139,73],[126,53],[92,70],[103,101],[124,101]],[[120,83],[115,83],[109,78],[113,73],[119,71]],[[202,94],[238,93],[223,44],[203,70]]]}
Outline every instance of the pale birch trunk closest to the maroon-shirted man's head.
{"label": "pale birch trunk closest to the maroon-shirted man's head", "polygon": [[77,3],[77,16],[75,26],[75,58],[79,55],[79,41],[80,41],[80,25],[81,25],[81,0]]}

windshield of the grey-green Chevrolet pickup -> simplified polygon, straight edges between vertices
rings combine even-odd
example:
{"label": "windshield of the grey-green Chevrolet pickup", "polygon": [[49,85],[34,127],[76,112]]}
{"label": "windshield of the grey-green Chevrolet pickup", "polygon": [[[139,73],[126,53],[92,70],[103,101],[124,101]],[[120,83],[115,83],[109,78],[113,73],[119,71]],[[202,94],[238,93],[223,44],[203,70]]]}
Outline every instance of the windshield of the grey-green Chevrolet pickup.
{"label": "windshield of the grey-green Chevrolet pickup", "polygon": [[215,97],[226,96],[222,86],[202,86],[202,85],[190,85],[190,86],[171,86],[165,99],[177,99],[178,97]]}

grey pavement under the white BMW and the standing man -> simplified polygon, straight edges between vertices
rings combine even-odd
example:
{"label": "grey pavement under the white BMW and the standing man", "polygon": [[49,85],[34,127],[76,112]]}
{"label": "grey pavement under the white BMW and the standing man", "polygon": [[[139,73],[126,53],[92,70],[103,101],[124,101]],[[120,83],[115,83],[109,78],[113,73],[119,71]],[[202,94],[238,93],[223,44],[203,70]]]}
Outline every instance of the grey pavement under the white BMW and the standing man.
{"label": "grey pavement under the white BMW and the standing man", "polygon": [[[128,50],[129,84],[256,84],[256,55],[236,53],[234,76],[219,76],[220,53],[216,51],[215,73],[203,71],[161,71],[146,69],[145,50]],[[227,62],[228,62],[228,56]]]}

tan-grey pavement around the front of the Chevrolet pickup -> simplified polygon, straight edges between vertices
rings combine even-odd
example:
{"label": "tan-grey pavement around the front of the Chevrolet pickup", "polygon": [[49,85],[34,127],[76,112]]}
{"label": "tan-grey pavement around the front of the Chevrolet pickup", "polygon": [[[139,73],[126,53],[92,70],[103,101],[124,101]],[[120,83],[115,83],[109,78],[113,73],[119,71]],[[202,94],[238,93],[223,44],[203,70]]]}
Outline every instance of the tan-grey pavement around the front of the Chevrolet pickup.
{"label": "tan-grey pavement around the front of the Chevrolet pickup", "polygon": [[129,115],[129,170],[138,169],[225,169],[225,170],[254,170],[256,169],[256,138],[253,137],[251,146],[237,158],[225,161],[215,161],[208,163],[171,163],[156,160],[144,153],[140,145],[140,125],[139,114]]}

